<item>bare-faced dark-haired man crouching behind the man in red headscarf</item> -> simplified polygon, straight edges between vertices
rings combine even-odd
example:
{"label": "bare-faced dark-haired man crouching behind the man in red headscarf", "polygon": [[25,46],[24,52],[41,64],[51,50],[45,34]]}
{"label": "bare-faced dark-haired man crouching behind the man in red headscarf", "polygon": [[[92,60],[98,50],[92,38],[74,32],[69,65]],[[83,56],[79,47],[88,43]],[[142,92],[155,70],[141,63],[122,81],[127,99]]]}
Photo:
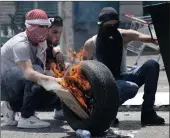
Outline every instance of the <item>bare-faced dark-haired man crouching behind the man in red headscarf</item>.
{"label": "bare-faced dark-haired man crouching behind the man in red headscarf", "polygon": [[[60,69],[64,70],[67,69],[69,64],[65,62],[64,55],[60,49],[60,38],[63,32],[63,19],[60,16],[50,17],[51,26],[48,31],[47,37],[47,49],[46,49],[46,72],[48,75],[54,75],[53,72],[50,70],[51,62],[55,62],[56,64],[60,65]],[[55,75],[54,75],[55,76]],[[61,105],[58,104],[55,108],[54,112],[55,119],[64,119],[63,112],[61,110]]]}

